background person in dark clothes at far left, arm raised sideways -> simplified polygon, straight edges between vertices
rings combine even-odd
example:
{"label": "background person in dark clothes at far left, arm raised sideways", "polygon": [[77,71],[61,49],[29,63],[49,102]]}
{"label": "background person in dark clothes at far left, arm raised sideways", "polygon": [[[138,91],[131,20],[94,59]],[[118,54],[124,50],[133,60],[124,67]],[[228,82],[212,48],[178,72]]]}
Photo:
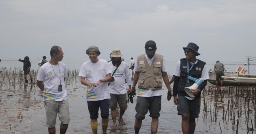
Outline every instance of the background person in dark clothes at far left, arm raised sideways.
{"label": "background person in dark clothes at far left, arm raised sideways", "polygon": [[24,60],[19,59],[19,61],[23,62],[25,84],[29,83],[29,81],[27,80],[27,74],[29,74],[29,76],[30,76],[31,83],[33,83],[33,78],[32,78],[31,72],[30,72],[31,63],[29,61],[29,57],[25,56]]}

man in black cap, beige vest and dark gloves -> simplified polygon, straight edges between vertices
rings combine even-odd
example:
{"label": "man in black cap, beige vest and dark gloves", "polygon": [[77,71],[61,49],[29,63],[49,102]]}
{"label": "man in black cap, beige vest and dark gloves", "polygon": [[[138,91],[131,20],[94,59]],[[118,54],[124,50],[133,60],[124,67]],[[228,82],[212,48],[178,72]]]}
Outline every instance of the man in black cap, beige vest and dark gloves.
{"label": "man in black cap, beige vest and dark gloves", "polygon": [[[158,117],[161,110],[162,83],[164,81],[169,97],[172,97],[169,78],[166,70],[166,62],[160,54],[155,54],[157,45],[153,40],[148,40],[145,44],[146,54],[137,57],[137,64],[134,67],[134,83],[132,94],[136,94],[135,86],[138,83],[138,97],[136,104],[134,131],[139,134],[142,120],[149,111],[151,121],[151,134],[157,133]],[[162,79],[163,78],[163,79]]]}

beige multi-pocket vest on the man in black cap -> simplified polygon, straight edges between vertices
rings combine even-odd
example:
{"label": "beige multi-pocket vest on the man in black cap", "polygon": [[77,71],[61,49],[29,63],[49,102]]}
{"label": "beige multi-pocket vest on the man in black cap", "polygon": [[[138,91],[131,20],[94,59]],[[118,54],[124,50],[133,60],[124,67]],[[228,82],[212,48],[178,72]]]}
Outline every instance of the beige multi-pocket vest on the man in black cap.
{"label": "beige multi-pocket vest on the man in black cap", "polygon": [[137,65],[140,70],[140,76],[138,80],[138,88],[160,90],[162,89],[162,66],[163,56],[160,54],[154,55],[154,60],[151,66],[148,65],[148,61],[145,54],[137,57]]}

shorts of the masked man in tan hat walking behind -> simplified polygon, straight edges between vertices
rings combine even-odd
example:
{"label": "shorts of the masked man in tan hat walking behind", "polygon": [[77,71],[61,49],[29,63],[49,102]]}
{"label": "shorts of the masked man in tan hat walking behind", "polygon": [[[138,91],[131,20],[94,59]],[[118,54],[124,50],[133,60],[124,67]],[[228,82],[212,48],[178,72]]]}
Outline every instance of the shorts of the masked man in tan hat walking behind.
{"label": "shorts of the masked man in tan hat walking behind", "polygon": [[127,108],[127,101],[126,101],[126,94],[110,94],[109,99],[109,108],[115,109],[118,103],[119,108],[121,110],[126,110]]}

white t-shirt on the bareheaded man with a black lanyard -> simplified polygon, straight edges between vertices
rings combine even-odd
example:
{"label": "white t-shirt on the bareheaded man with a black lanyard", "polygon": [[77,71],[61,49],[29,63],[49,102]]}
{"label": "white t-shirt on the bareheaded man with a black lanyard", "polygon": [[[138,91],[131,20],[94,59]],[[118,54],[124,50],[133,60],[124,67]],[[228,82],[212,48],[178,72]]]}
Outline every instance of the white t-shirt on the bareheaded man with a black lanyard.
{"label": "white t-shirt on the bareheaded man with a black lanyard", "polygon": [[[67,77],[67,69],[64,63],[58,62],[57,65],[51,65],[49,62],[41,66],[38,71],[37,80],[44,82],[44,101],[67,100],[64,78]],[[58,86],[62,85],[62,91],[58,91]]]}

